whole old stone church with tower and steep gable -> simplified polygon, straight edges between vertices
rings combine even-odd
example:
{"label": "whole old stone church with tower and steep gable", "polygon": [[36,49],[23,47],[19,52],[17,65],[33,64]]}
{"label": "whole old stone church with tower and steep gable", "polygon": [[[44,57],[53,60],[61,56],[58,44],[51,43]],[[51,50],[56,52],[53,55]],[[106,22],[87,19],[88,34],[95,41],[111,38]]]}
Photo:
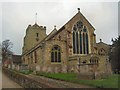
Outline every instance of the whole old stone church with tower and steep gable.
{"label": "whole old stone church with tower and steep gable", "polygon": [[46,27],[29,25],[24,37],[22,63],[41,72],[104,74],[111,72],[110,46],[96,43],[95,28],[78,12],[59,30],[47,35]]}

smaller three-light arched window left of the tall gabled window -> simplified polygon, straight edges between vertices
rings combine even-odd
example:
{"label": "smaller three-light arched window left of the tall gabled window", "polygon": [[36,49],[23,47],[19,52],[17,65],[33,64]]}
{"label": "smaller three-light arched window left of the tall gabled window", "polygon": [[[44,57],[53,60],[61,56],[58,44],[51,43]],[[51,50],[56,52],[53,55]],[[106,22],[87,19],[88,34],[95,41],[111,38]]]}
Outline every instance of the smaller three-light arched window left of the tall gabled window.
{"label": "smaller three-light arched window left of the tall gabled window", "polygon": [[58,45],[55,45],[52,48],[51,62],[61,62],[61,49]]}

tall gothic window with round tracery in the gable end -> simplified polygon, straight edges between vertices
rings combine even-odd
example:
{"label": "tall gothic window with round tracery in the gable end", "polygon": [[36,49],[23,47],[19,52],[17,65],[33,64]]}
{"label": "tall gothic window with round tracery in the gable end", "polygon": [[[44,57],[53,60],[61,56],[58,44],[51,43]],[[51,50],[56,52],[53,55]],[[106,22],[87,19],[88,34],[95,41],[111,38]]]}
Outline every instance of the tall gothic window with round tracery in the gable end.
{"label": "tall gothic window with round tracery in the gable end", "polygon": [[81,21],[73,27],[73,54],[89,54],[88,31]]}

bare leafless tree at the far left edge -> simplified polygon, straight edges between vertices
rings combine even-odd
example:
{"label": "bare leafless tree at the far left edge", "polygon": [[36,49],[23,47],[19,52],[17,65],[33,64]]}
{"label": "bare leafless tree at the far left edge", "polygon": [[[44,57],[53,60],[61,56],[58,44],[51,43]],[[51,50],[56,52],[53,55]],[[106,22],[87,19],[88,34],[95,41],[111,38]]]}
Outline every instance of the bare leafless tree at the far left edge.
{"label": "bare leafless tree at the far left edge", "polygon": [[2,62],[4,61],[12,54],[11,48],[13,44],[10,42],[10,40],[5,40],[2,42]]}

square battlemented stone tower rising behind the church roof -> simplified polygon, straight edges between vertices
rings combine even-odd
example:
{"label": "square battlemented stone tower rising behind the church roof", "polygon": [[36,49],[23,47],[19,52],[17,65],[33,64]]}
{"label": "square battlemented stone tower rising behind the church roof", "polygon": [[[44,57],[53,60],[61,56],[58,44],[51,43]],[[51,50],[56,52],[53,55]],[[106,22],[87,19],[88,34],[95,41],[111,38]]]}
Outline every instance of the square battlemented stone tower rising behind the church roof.
{"label": "square battlemented stone tower rising behind the church roof", "polygon": [[35,45],[40,43],[46,36],[45,26],[39,26],[37,23],[32,26],[29,25],[26,29],[22,53],[24,54],[25,52],[35,47]]}

